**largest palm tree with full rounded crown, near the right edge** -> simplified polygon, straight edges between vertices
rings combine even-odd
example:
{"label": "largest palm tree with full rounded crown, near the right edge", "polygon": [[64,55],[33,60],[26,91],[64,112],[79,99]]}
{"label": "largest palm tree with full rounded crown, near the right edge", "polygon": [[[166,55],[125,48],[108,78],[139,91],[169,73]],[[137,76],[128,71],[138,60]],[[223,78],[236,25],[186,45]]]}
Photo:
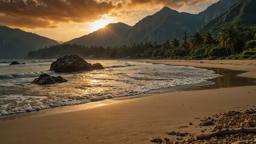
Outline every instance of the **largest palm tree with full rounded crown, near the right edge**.
{"label": "largest palm tree with full rounded crown, near the right edge", "polygon": [[228,47],[231,49],[231,55],[235,55],[234,44],[237,43],[238,38],[239,32],[234,28],[224,28],[219,35],[220,46]]}

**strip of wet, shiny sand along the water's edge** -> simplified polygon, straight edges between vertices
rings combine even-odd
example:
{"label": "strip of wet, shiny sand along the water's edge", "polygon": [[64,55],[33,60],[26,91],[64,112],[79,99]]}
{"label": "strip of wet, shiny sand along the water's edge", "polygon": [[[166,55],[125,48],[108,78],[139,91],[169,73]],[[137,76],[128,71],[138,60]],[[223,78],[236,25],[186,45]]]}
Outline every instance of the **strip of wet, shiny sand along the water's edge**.
{"label": "strip of wet, shiny sand along the water's edge", "polygon": [[[158,63],[150,62],[150,64],[158,64]],[[170,65],[170,64],[165,64],[165,65]],[[252,79],[249,79],[248,77],[237,77],[238,74],[243,74],[243,73],[245,73],[245,71],[238,71],[238,70],[234,71],[234,70],[228,70],[225,68],[209,68],[209,67],[198,67],[198,68],[212,70],[212,71],[214,71],[214,73],[220,74],[221,76],[215,77],[213,79],[208,79],[205,82],[194,83],[194,84],[190,84],[190,85],[174,86],[171,88],[155,89],[155,90],[145,92],[144,94],[139,94],[139,95],[115,97],[115,98],[109,98],[109,99],[100,100],[100,101],[92,101],[92,102],[88,102],[88,103],[84,103],[84,104],[51,107],[49,109],[36,110],[36,111],[31,111],[31,112],[14,113],[11,115],[3,115],[3,116],[0,116],[0,121],[26,118],[26,117],[34,117],[34,116],[43,116],[43,115],[54,115],[57,113],[74,112],[77,110],[93,109],[95,107],[106,106],[107,104],[115,104],[115,103],[119,103],[121,101],[132,100],[134,98],[149,97],[152,95],[167,94],[167,93],[171,93],[171,92],[198,91],[198,90],[206,90],[206,89],[231,88],[231,87],[237,87],[237,86],[253,85]]]}

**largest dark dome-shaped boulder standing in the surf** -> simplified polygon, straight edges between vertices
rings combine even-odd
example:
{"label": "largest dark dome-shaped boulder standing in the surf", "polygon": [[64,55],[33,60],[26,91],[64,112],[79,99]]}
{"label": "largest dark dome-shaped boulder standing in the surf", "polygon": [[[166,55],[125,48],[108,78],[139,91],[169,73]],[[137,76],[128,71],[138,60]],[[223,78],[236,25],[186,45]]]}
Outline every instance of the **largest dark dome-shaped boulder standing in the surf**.
{"label": "largest dark dome-shaped boulder standing in the surf", "polygon": [[77,71],[92,70],[92,64],[89,64],[78,55],[64,56],[51,64],[50,71],[56,73],[69,73]]}

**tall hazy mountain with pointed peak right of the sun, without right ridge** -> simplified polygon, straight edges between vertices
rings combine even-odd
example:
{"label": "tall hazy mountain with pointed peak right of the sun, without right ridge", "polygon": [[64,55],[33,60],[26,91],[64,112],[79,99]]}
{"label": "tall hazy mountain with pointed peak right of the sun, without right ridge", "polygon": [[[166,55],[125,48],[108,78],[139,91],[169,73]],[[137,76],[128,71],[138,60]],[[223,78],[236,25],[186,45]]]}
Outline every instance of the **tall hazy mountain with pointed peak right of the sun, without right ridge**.
{"label": "tall hazy mountain with pointed peak right of the sun, without right ridge", "polygon": [[156,41],[164,42],[167,38],[181,38],[184,32],[194,32],[203,25],[202,20],[197,19],[196,14],[179,13],[168,7],[147,16],[136,23],[122,38],[120,43]]}

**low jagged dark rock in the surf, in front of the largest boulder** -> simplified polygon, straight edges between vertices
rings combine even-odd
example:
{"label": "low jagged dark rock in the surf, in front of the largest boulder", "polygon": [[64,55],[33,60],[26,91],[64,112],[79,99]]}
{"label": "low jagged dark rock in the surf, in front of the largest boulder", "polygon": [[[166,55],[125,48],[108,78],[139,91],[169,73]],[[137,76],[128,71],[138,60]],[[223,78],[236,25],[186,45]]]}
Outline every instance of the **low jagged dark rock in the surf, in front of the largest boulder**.
{"label": "low jagged dark rock in the surf, in front of the largest boulder", "polygon": [[51,85],[54,83],[63,83],[63,82],[68,82],[67,80],[63,79],[62,77],[54,77],[50,76],[48,74],[40,74],[39,78],[33,80],[33,84],[36,85]]}

